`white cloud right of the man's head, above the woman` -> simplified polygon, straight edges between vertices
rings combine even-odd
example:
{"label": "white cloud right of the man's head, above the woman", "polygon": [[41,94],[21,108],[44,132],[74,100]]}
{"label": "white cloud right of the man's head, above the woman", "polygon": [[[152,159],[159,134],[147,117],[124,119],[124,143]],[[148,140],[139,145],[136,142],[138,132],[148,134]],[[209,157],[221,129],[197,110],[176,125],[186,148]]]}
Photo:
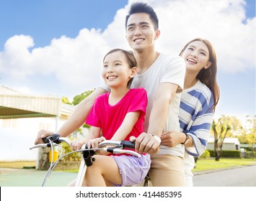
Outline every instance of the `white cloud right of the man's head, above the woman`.
{"label": "white cloud right of the man's head, above the woman", "polygon": [[244,1],[174,1],[156,12],[162,31],[158,45],[164,52],[178,54],[190,39],[203,37],[216,49],[219,70],[255,67],[255,18],[243,23]]}

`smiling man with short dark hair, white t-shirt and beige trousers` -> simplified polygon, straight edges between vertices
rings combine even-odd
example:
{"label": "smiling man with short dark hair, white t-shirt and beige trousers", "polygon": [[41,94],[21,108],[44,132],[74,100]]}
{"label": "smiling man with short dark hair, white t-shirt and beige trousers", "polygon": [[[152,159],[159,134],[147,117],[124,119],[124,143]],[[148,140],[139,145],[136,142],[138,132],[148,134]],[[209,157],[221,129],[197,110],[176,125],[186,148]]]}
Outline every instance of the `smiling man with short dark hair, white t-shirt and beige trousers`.
{"label": "smiling man with short dark hair, white t-shirt and beige trousers", "polygon": [[[136,151],[149,153],[152,163],[149,171],[153,186],[184,186],[184,169],[182,158],[185,141],[175,147],[159,146],[163,131],[180,131],[179,107],[180,92],[185,78],[185,62],[182,57],[170,57],[155,50],[154,41],[159,38],[159,22],[151,6],[138,2],[131,5],[125,18],[126,39],[133,49],[138,62],[138,75],[133,80],[132,88],[145,88],[149,103],[146,108],[145,130],[136,141]],[[79,128],[87,119],[87,115],[97,95],[105,93],[107,88],[97,88],[79,106],[60,128],[58,134],[68,136]],[[42,142],[41,137],[52,134],[40,131],[35,144]],[[75,144],[74,149],[81,147]]]}

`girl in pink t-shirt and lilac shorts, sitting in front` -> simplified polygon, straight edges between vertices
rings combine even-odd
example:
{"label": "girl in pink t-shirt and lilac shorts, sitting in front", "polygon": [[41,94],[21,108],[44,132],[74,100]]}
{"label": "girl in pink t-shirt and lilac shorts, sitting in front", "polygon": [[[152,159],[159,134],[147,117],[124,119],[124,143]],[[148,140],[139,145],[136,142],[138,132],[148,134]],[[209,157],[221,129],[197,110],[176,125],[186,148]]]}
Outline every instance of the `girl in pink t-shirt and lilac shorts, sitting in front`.
{"label": "girl in pink t-shirt and lilac shorts, sitting in front", "polygon": [[[130,136],[138,136],[144,131],[146,90],[130,89],[137,73],[136,66],[133,52],[115,49],[105,55],[102,78],[110,87],[110,93],[104,93],[95,100],[86,121],[91,125],[89,141],[80,141],[79,146],[76,141],[72,142],[74,149],[79,149],[85,143],[88,147],[97,148],[105,139],[129,140]],[[142,155],[141,159],[125,154],[96,155],[94,164],[87,167],[84,185],[100,187],[137,184],[146,177],[150,164],[149,154]]]}

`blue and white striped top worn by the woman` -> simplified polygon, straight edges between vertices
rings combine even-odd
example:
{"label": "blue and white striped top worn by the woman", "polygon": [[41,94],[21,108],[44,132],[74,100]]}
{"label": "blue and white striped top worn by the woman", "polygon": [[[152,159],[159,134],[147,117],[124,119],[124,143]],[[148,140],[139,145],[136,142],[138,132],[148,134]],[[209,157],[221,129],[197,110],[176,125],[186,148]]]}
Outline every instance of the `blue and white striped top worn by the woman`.
{"label": "blue and white striped top worn by the woman", "polygon": [[182,92],[180,101],[180,128],[193,139],[193,147],[186,151],[199,157],[206,150],[213,121],[213,93],[198,80],[192,88]]}

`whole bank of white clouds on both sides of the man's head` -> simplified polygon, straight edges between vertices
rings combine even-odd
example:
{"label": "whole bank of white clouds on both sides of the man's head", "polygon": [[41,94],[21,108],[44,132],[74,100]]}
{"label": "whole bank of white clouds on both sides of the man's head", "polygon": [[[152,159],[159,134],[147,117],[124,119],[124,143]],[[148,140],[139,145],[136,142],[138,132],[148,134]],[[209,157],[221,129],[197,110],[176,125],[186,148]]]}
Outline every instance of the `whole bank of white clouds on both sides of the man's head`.
{"label": "whole bank of white clouds on both sides of the man's head", "polygon": [[[132,1],[129,1],[131,4]],[[245,19],[242,0],[147,1],[156,10],[162,32],[156,45],[178,55],[195,37],[209,39],[216,48],[219,70],[238,72],[255,67],[255,18]],[[62,36],[47,47],[34,48],[31,36],[14,36],[0,52],[0,73],[10,80],[53,75],[62,85],[91,89],[101,82],[102,58],[111,48],[128,49],[125,14],[117,11],[107,29],[81,29],[75,38]]]}

